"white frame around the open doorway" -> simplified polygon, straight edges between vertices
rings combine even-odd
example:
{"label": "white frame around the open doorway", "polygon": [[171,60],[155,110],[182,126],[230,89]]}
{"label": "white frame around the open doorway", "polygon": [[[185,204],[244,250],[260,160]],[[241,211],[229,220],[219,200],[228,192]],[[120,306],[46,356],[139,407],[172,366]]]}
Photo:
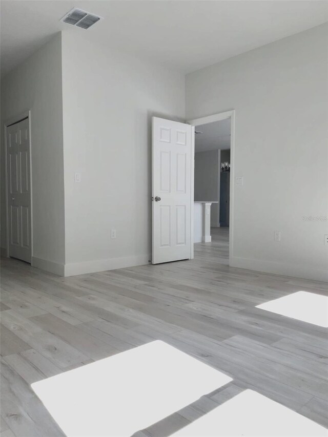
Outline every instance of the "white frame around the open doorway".
{"label": "white frame around the open doorway", "polygon": [[[229,209],[229,265],[231,265],[231,261],[233,258],[233,239],[234,239],[234,181],[235,181],[235,110],[220,112],[218,114],[208,115],[207,117],[194,118],[192,120],[188,120],[187,123],[192,126],[199,126],[200,124],[208,124],[213,123],[214,121],[227,120],[231,118],[231,137],[230,137],[230,209]],[[195,151],[193,151],[195,156]],[[192,169],[192,190],[194,192],[194,159],[193,169]],[[194,223],[194,216],[192,214],[192,224]],[[192,226],[193,228],[194,226]],[[194,235],[192,235],[192,243],[194,243]],[[194,247],[194,244],[192,244]],[[194,250],[194,249],[193,249]]]}

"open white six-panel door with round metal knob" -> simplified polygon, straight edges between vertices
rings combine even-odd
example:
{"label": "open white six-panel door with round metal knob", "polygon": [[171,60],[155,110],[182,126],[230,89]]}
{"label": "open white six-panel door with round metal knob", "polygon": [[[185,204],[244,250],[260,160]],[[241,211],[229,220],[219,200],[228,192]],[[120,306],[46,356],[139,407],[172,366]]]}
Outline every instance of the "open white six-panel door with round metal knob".
{"label": "open white six-panel door with round metal knob", "polygon": [[153,264],[192,258],[193,130],[153,117]]}

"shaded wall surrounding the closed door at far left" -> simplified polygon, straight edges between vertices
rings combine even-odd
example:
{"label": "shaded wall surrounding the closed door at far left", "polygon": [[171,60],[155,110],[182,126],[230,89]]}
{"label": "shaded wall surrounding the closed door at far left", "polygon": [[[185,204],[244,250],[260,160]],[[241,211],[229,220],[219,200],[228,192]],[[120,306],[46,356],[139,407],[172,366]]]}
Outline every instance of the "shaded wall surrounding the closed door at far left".
{"label": "shaded wall surrounding the closed door at far left", "polygon": [[6,247],[4,122],[31,110],[32,264],[64,272],[63,101],[61,35],[1,81],[1,246]]}

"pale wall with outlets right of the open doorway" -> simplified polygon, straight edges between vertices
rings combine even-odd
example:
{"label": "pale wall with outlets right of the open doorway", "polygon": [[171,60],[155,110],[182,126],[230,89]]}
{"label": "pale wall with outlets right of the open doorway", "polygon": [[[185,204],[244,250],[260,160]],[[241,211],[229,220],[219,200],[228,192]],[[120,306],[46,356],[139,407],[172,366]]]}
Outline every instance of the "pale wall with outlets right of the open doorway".
{"label": "pale wall with outlets right of the open doorway", "polygon": [[[187,119],[236,110],[232,265],[328,280],[327,25],[187,75]],[[281,242],[273,239],[281,231]]]}

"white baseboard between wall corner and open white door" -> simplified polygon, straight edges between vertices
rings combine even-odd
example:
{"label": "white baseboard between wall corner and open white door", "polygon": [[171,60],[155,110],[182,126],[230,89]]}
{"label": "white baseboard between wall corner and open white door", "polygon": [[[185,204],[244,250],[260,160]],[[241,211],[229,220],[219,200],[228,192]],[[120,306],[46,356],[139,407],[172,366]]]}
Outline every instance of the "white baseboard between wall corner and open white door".
{"label": "white baseboard between wall corner and open white door", "polygon": [[85,273],[104,272],[115,268],[133,267],[148,264],[150,255],[135,255],[131,257],[110,258],[95,261],[65,264],[65,276],[83,275]]}

